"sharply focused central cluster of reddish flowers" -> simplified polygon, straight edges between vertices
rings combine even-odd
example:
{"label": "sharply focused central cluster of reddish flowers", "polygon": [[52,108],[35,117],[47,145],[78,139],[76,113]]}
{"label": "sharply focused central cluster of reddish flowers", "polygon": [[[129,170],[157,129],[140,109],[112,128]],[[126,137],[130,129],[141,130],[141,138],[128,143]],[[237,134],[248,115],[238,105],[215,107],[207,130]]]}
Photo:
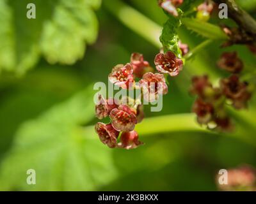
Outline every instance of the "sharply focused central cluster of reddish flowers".
{"label": "sharply focused central cluster of reddish flowers", "polygon": [[[141,89],[143,99],[147,102],[157,101],[159,94],[168,93],[164,75],[174,77],[182,69],[183,62],[172,52],[157,54],[155,58],[156,69],[160,73],[154,73],[153,68],[144,61],[142,54],[133,53],[131,61],[127,64],[116,65],[109,74],[109,82],[122,89]],[[138,78],[138,84],[136,84]],[[118,99],[104,99],[101,94],[95,106],[95,115],[98,119],[109,117],[109,124],[98,122],[95,131],[100,141],[110,148],[134,149],[141,144],[138,133],[134,131],[136,124],[144,118],[143,105],[138,99],[129,97]],[[118,142],[118,136],[120,142]]]}

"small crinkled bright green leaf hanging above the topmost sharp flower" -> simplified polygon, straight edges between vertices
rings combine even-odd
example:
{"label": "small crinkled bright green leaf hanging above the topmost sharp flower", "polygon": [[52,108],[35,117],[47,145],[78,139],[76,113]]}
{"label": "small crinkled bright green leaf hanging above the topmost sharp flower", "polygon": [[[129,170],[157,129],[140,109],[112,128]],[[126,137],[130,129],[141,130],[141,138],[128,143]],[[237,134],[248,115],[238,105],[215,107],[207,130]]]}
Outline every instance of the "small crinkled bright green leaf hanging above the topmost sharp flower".
{"label": "small crinkled bright green leaf hanging above the topmost sharp flower", "polygon": [[182,57],[182,52],[179,48],[179,36],[177,34],[177,29],[179,29],[181,22],[180,19],[182,17],[182,11],[177,10],[179,12],[179,17],[172,17],[167,20],[164,24],[162,34],[160,36],[160,41],[163,45],[164,52],[172,51],[177,57]]}

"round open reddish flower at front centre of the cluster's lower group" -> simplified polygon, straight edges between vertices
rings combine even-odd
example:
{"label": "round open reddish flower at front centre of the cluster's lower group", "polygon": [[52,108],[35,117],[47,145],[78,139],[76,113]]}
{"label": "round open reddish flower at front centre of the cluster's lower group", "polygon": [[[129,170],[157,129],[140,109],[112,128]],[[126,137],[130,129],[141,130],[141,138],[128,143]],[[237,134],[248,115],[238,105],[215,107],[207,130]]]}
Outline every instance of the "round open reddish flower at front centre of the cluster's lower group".
{"label": "round open reddish flower at front centre of the cluster's lower group", "polygon": [[127,105],[120,105],[118,108],[114,108],[109,117],[112,121],[112,126],[117,131],[132,131],[137,123],[136,110]]}

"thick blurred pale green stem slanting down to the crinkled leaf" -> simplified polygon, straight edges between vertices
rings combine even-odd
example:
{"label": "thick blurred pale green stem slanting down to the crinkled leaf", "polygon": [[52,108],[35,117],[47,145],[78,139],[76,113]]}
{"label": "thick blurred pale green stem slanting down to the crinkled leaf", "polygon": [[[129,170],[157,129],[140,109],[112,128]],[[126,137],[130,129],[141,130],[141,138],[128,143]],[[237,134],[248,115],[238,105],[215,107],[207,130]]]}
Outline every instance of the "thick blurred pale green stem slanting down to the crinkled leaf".
{"label": "thick blurred pale green stem slanting down to the crinkled leaf", "polygon": [[140,34],[157,48],[162,47],[159,41],[161,27],[155,22],[119,0],[103,1],[103,5],[129,29]]}

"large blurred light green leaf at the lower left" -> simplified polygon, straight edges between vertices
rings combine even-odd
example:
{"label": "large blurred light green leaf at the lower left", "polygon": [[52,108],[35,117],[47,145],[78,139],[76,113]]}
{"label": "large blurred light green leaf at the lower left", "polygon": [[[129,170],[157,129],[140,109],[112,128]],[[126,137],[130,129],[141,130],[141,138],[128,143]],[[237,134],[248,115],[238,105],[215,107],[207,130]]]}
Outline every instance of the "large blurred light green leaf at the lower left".
{"label": "large blurred light green leaf at the lower left", "polygon": [[[81,126],[94,117],[92,98],[90,86],[22,124],[1,163],[0,189],[89,191],[116,179],[111,149],[102,145],[93,128]],[[36,171],[36,185],[26,183],[29,169]]]}

